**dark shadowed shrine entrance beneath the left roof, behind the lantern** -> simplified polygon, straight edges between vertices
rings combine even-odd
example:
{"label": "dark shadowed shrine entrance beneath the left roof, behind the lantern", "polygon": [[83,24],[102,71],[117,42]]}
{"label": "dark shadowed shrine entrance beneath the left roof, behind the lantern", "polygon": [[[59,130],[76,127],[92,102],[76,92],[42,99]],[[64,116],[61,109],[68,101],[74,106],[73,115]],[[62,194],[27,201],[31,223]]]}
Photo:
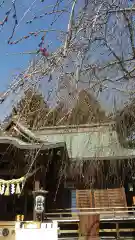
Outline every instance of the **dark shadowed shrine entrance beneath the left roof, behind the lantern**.
{"label": "dark shadowed shrine entrance beneath the left roof, behind the lantern", "polygon": [[[35,161],[33,161],[34,157]],[[8,181],[25,176],[31,162],[34,162],[21,194],[12,194],[11,186],[8,189],[9,193],[6,194],[8,186],[5,185],[4,192],[0,194],[0,221],[14,221],[16,215],[24,215],[25,220],[33,219],[32,191],[35,190],[35,182],[39,182],[39,188],[48,191],[47,210],[62,207],[61,193],[66,161],[64,146],[52,146],[37,151],[27,148],[27,144],[25,149],[19,149],[9,143],[1,143],[0,158],[0,179]],[[22,188],[22,184],[20,187]]]}

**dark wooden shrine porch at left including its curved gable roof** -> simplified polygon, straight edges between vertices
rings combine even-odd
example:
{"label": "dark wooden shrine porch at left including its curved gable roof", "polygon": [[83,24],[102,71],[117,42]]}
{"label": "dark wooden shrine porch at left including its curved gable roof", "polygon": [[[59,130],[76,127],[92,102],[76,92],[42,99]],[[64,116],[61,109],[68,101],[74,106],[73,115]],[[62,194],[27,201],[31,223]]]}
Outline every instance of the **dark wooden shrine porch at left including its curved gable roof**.
{"label": "dark wooden shrine porch at left including its curved gable roof", "polygon": [[[41,141],[26,127],[11,121],[0,136],[0,179],[11,180],[24,176],[21,194],[16,196],[9,189],[9,196],[0,196],[0,220],[15,220],[23,214],[25,220],[33,219],[32,191],[49,191],[47,207],[61,206],[63,185],[59,183],[59,172],[64,171],[66,161],[65,143]],[[50,181],[51,179],[51,181]],[[57,186],[59,186],[58,194]],[[54,201],[55,199],[55,201]]]}

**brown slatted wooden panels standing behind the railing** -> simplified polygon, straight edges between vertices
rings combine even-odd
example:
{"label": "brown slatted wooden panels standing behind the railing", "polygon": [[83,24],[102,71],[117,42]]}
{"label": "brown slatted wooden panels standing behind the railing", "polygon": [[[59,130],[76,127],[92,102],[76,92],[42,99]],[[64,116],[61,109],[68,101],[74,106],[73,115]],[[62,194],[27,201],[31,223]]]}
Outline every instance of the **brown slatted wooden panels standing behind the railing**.
{"label": "brown slatted wooden panels standing behind the railing", "polygon": [[[76,202],[78,209],[110,209],[117,208],[117,211],[123,210],[119,213],[120,216],[126,216],[128,207],[126,201],[125,189],[93,189],[93,190],[77,190]],[[85,210],[84,210],[85,211]],[[126,211],[126,213],[125,213]],[[100,217],[109,217],[112,213],[100,213]]]}

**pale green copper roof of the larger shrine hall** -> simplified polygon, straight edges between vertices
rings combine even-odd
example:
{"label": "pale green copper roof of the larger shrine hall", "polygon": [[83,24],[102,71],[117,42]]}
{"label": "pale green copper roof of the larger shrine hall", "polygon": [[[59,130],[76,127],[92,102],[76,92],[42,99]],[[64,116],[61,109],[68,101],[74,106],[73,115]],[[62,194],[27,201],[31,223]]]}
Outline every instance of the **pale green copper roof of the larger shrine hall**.
{"label": "pale green copper roof of the larger shrine hall", "polygon": [[126,159],[135,150],[123,148],[110,124],[46,128],[35,133],[41,140],[65,142],[72,159]]}

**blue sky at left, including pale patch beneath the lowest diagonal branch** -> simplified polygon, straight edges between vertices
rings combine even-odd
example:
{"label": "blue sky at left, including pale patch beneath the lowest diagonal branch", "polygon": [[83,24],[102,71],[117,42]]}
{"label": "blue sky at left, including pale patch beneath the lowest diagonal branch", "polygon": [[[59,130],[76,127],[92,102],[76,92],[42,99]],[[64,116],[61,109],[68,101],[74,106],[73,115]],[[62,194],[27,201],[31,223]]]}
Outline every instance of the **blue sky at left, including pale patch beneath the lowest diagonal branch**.
{"label": "blue sky at left, including pale patch beneath the lowest diagonal branch", "polygon": [[[0,5],[3,0],[0,0]],[[57,0],[44,0],[42,3],[41,0],[16,0],[16,9],[17,9],[17,20],[19,22],[18,27],[16,28],[14,37],[12,41],[16,41],[23,36],[27,36],[29,32],[36,32],[39,30],[48,30],[50,29],[50,24],[54,20],[54,14],[45,16],[42,19],[33,21],[31,24],[26,24],[27,21],[31,20],[34,16],[40,16],[45,12],[52,12],[54,4]],[[70,10],[72,1],[61,0],[60,9],[65,9],[65,7],[70,2]],[[82,5],[82,0],[78,0],[78,7]],[[4,4],[0,7],[0,22],[5,18],[5,13],[12,6],[11,0],[4,0]],[[29,11],[28,11],[29,10]],[[57,30],[67,30],[67,25],[69,21],[69,12],[62,14],[52,28]],[[58,16],[57,14],[56,16]],[[27,69],[29,61],[34,58],[32,54],[19,54],[23,52],[34,52],[38,49],[38,45],[41,41],[42,35],[39,37],[32,37],[27,40],[22,41],[17,45],[8,45],[8,38],[11,36],[12,29],[14,26],[13,14],[11,14],[8,22],[4,25],[4,28],[0,29],[0,53],[1,53],[1,64],[0,64],[0,93],[5,91],[9,84],[14,80],[20,72]],[[25,17],[24,17],[25,16]],[[45,37],[45,47],[49,52],[54,51],[61,45],[60,40],[58,40],[58,32],[49,33]],[[16,54],[15,54],[16,53]],[[55,87],[55,86],[53,86]],[[46,90],[47,86],[44,84],[43,88]],[[3,120],[11,112],[12,106],[15,104],[18,97],[11,94],[9,98],[4,101],[0,107],[0,120]]]}

